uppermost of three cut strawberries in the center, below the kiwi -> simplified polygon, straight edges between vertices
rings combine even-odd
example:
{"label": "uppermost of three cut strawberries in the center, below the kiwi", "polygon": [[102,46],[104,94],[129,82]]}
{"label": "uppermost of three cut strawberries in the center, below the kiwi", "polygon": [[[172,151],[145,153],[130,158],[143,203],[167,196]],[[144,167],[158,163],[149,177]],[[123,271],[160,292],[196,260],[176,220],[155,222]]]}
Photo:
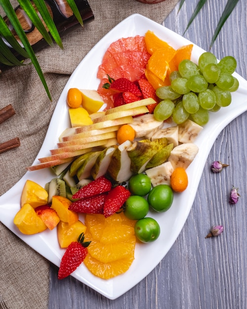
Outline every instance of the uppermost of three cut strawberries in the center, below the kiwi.
{"label": "uppermost of three cut strawberries in the center, below the kiwi", "polygon": [[110,189],[111,189],[111,182],[105,176],[101,176],[92,181],[91,183],[87,184],[83,188],[81,188],[78,192],[74,193],[72,195],[72,198],[77,199],[77,198],[93,196],[110,191]]}

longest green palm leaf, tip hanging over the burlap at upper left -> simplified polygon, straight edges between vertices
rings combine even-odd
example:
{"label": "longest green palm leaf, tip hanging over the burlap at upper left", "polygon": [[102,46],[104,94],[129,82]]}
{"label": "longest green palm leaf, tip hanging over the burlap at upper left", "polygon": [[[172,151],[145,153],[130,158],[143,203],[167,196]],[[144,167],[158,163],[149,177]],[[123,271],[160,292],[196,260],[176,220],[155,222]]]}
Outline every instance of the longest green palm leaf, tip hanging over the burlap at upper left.
{"label": "longest green palm leaf, tip hanging over the burlap at upper left", "polygon": [[15,29],[18,37],[20,38],[20,40],[22,41],[26,51],[28,52],[31,61],[32,61],[33,65],[35,66],[35,70],[36,70],[40,80],[42,81],[42,84],[45,88],[45,91],[46,91],[49,99],[51,100],[51,95],[50,95],[47,83],[45,81],[44,75],[42,73],[42,70],[39,66],[37,59],[36,59],[35,52],[34,52],[33,48],[31,47],[24,30],[22,29],[22,26],[21,26],[16,14],[15,14],[13,7],[11,6],[9,0],[0,0],[0,5],[3,8],[3,10],[5,11],[6,15],[8,16],[10,23],[12,24],[12,26]]}

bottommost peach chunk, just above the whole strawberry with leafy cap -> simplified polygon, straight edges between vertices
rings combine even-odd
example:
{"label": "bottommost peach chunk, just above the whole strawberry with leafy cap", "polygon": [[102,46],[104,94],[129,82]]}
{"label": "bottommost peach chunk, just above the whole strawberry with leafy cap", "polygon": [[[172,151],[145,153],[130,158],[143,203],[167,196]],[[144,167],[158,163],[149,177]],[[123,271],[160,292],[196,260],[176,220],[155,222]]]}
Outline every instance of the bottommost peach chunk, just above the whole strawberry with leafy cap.
{"label": "bottommost peach chunk, just above the whole strawberry with leafy cap", "polygon": [[58,242],[61,248],[67,248],[72,241],[76,241],[79,235],[86,232],[87,227],[81,222],[77,221],[69,225],[67,222],[60,221],[58,224]]}

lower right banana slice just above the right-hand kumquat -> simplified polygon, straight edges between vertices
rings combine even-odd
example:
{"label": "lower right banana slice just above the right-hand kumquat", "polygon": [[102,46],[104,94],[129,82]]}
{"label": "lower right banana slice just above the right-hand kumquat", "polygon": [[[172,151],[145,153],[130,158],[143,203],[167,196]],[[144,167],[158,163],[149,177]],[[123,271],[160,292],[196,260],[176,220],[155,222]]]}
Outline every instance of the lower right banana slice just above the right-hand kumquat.
{"label": "lower right banana slice just above the right-hand kumquat", "polygon": [[197,155],[199,148],[193,143],[185,143],[176,146],[168,158],[174,168],[183,167],[186,169]]}

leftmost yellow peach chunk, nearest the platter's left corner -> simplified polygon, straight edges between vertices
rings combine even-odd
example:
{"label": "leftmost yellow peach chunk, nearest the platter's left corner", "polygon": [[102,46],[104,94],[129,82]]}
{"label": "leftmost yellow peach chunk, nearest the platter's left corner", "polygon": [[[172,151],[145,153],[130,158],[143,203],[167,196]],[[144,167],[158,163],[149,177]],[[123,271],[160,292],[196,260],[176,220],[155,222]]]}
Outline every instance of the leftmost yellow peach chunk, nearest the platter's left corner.
{"label": "leftmost yellow peach chunk, nearest the platter's left corner", "polygon": [[28,203],[24,204],[14,217],[14,224],[23,234],[32,235],[47,229],[38,217],[35,209]]}

